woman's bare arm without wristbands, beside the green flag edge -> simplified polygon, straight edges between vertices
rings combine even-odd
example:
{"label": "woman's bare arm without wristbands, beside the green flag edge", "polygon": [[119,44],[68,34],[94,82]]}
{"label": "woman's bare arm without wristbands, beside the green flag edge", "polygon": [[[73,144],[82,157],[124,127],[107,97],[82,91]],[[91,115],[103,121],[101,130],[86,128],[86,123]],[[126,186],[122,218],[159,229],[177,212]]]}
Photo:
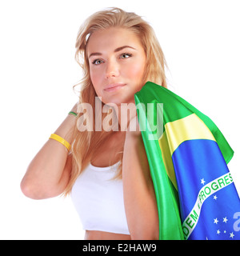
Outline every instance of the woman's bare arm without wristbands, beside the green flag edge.
{"label": "woman's bare arm without wristbands, beside the green flag edge", "polygon": [[158,208],[140,131],[126,133],[122,182],[131,238],[158,239]]}

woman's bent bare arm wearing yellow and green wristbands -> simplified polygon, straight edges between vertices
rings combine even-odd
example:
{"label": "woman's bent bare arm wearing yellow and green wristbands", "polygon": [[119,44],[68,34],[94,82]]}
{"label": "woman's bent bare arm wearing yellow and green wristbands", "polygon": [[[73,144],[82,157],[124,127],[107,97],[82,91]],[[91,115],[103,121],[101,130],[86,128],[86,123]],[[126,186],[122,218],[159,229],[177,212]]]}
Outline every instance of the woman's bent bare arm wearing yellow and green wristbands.
{"label": "woman's bent bare arm wearing yellow and green wristbands", "polygon": [[[73,107],[77,110],[77,104]],[[72,142],[75,117],[66,119],[54,132],[67,142]],[[49,139],[34,157],[22,178],[22,193],[29,198],[44,199],[62,194],[70,179],[71,156],[61,143]]]}

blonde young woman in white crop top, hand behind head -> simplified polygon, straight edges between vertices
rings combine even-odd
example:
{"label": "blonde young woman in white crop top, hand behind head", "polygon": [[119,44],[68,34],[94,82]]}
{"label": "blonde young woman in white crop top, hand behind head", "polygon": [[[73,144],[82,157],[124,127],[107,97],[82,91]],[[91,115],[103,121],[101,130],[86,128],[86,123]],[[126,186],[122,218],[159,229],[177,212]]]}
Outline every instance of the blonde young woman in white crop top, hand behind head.
{"label": "blonde young woman in white crop top, hand behind head", "polygon": [[[122,104],[134,106],[134,94],[147,81],[166,86],[166,63],[154,30],[134,13],[100,11],[78,31],[75,57],[84,71],[79,102],[30,162],[22,192],[34,199],[71,194],[86,239],[158,239],[141,132],[130,129],[138,125],[136,109],[121,116]],[[98,107],[95,97],[102,101]],[[92,106],[93,116],[82,103]],[[106,121],[113,114],[119,129],[99,129],[99,116]],[[93,129],[82,129],[88,122]]]}

